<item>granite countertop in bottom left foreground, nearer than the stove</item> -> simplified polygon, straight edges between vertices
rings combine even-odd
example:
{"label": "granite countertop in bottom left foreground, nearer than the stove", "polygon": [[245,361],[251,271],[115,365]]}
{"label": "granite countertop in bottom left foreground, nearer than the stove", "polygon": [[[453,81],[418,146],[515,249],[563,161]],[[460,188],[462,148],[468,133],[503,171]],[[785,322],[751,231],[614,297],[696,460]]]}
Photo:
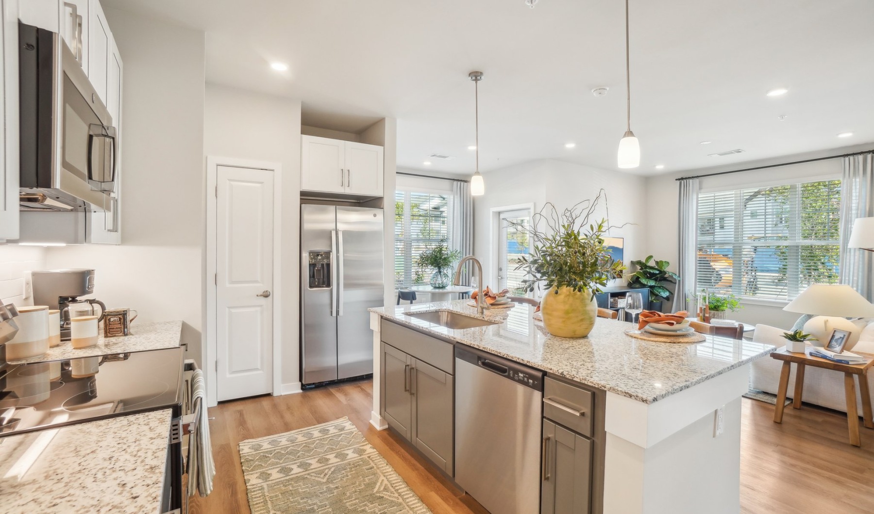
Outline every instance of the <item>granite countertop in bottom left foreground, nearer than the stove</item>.
{"label": "granite countertop in bottom left foreground, nearer than the stove", "polygon": [[161,510],[172,410],[0,438],[3,512]]}

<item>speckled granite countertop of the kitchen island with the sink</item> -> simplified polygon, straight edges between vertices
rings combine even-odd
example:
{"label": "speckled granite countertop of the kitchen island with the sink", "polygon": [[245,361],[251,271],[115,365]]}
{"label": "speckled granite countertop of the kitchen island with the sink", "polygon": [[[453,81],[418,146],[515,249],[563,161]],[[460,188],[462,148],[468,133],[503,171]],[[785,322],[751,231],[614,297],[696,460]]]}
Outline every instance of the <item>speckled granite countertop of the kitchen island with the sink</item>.
{"label": "speckled granite countertop of the kitchen island with the sink", "polygon": [[711,335],[702,343],[649,342],[629,337],[624,332],[633,326],[614,319],[598,319],[586,338],[558,338],[545,331],[543,322],[532,319],[533,306],[522,304],[486,311],[485,319],[498,325],[463,330],[406,316],[407,312],[440,310],[475,316],[476,309],[468,301],[392,305],[370,311],[423,332],[645,403],[662,400],[743,366],[774,348]]}

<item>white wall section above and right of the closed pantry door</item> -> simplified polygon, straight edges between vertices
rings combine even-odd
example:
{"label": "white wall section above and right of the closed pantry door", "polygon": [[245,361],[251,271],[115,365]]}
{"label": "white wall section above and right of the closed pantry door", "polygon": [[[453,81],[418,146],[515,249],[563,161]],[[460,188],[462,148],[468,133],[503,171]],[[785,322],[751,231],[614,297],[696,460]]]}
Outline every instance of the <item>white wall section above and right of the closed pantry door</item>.
{"label": "white wall section above and right of the closed pantry door", "polygon": [[281,380],[299,390],[301,102],[207,84],[203,121],[206,155],[281,163]]}

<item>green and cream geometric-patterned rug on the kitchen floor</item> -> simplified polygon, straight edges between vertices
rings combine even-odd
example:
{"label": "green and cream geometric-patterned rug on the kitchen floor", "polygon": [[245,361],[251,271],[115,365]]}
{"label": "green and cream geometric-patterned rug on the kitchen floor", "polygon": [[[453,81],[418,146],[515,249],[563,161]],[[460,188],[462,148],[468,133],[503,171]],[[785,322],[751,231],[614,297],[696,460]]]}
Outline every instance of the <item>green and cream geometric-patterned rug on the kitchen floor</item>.
{"label": "green and cream geometric-patterned rug on the kitchen floor", "polygon": [[252,514],[430,514],[348,418],[239,443]]}

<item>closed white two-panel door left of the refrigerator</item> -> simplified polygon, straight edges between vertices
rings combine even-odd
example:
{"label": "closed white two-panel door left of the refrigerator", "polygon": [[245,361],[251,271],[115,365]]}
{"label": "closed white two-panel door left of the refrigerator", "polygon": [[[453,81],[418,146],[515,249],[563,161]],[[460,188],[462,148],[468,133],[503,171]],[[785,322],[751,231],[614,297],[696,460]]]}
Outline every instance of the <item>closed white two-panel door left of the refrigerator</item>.
{"label": "closed white two-panel door left of the refrigerator", "polygon": [[218,166],[218,401],[273,391],[274,173]]}

